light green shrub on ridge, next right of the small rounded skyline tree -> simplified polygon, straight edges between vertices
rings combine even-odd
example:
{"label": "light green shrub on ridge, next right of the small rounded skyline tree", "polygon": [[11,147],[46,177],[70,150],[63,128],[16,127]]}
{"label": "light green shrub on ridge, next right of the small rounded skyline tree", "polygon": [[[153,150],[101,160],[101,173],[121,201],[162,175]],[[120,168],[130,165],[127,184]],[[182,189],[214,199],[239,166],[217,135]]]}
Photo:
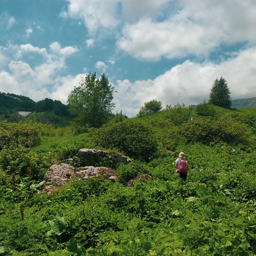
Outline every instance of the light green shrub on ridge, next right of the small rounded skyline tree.
{"label": "light green shrub on ridge, next right of the small rounded skyline tree", "polygon": [[183,103],[182,105],[178,103],[173,107],[166,105],[164,118],[169,119],[175,125],[180,125],[190,119],[193,111],[194,108],[191,105],[185,106]]}

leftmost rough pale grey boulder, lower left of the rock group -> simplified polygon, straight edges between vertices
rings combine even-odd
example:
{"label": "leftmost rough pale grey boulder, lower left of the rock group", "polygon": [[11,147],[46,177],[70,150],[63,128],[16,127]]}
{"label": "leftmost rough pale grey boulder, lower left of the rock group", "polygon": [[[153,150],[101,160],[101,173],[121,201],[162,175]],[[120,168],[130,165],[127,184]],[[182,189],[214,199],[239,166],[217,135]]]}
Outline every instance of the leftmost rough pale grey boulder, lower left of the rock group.
{"label": "leftmost rough pale grey boulder, lower left of the rock group", "polygon": [[69,164],[52,165],[50,171],[44,176],[45,185],[62,186],[68,182],[70,176],[75,174],[75,168]]}

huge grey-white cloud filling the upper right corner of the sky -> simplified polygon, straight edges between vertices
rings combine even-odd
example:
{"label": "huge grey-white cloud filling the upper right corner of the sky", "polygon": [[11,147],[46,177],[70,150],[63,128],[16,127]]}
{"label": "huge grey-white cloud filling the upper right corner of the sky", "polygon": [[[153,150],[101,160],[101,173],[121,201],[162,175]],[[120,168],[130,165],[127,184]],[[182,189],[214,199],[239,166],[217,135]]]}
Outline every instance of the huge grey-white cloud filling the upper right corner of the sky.
{"label": "huge grey-white cloud filling the upper right corner of the sky", "polygon": [[138,59],[207,56],[221,43],[256,43],[256,2],[185,1],[162,22],[141,18],[123,28],[119,50]]}

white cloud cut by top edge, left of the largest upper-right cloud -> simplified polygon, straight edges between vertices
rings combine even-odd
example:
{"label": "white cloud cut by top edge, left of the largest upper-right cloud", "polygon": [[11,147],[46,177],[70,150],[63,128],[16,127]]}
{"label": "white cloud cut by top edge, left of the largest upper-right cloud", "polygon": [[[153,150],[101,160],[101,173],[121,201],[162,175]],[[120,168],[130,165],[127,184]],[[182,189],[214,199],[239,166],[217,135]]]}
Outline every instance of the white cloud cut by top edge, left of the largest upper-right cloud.
{"label": "white cloud cut by top edge, left of the largest upper-right cloud", "polygon": [[136,21],[141,16],[157,17],[168,0],[158,1],[81,1],[69,0],[68,12],[61,12],[63,18],[84,19],[89,34],[98,30],[111,30],[123,21]]}

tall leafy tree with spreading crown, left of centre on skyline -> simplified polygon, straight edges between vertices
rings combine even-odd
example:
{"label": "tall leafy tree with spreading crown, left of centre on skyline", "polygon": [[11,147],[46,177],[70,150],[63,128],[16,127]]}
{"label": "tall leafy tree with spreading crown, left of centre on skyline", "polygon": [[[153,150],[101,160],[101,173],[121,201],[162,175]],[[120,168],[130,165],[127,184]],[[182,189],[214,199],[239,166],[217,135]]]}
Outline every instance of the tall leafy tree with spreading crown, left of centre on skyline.
{"label": "tall leafy tree with spreading crown, left of centre on skyline", "polygon": [[108,122],[108,115],[115,107],[112,103],[113,94],[114,87],[109,84],[105,73],[99,79],[96,78],[96,72],[90,72],[69,94],[68,111],[76,115],[74,122],[77,125],[89,124],[91,127],[99,128]]}

